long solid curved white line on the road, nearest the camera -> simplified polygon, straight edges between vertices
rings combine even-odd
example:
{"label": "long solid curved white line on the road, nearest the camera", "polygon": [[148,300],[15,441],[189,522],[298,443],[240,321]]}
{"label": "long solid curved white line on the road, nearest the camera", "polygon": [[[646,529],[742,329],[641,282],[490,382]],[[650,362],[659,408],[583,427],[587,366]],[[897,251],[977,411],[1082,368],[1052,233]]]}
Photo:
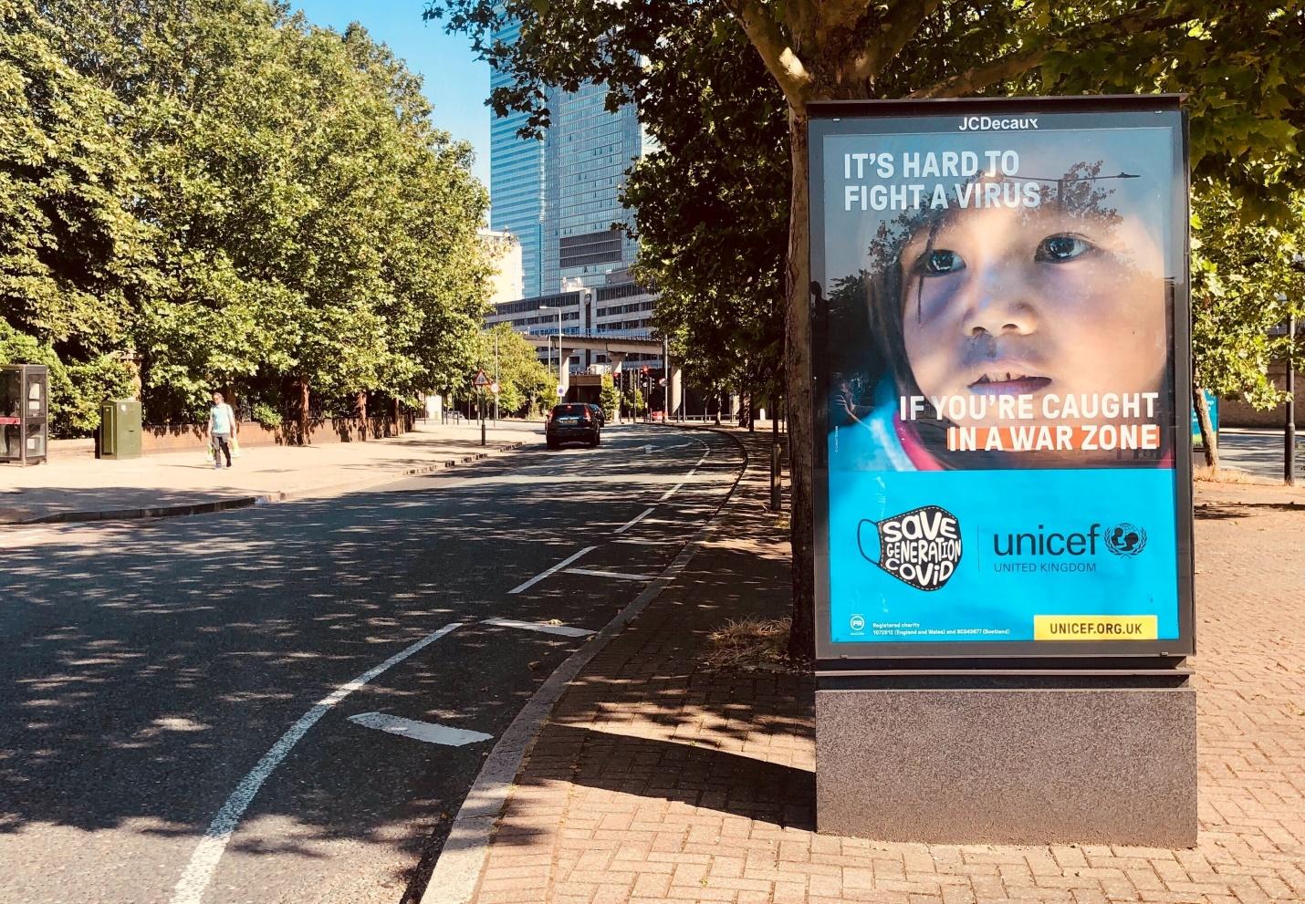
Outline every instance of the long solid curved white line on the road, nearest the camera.
{"label": "long solid curved white line on the road, nearest the camera", "polygon": [[462,626],[462,622],[453,622],[452,625],[445,625],[437,631],[427,634],[424,638],[416,643],[405,647],[399,652],[394,654],[386,659],[380,665],[363,672],[360,676],[352,681],[339,685],[330,694],[324,697],[317,702],[313,708],[299,717],[290,729],[281,736],[281,740],[271,745],[271,750],[262,755],[262,759],[249,770],[249,774],[240,780],[236,789],[231,792],[231,797],[227,798],[222,809],[218,810],[218,815],[213,817],[213,822],[209,823],[207,831],[200,840],[200,845],[191,854],[191,862],[187,864],[185,871],[181,874],[181,879],[176,883],[176,888],[172,890],[172,904],[200,904],[204,897],[205,888],[209,887],[209,882],[213,881],[213,873],[218,869],[218,861],[222,860],[222,852],[227,849],[227,843],[231,841],[231,835],[235,832],[236,824],[240,822],[240,817],[253,802],[254,794],[262,787],[262,783],[268,780],[273,770],[281,766],[281,761],[286,758],[290,749],[299,742],[308,729],[317,724],[317,720],[325,716],[333,706],[339,703],[342,699],[352,694],[359,687],[367,685],[372,678],[381,674],[393,665],[398,665],[405,659],[412,654],[422,652],[428,646],[438,640],[445,634],[457,630]]}

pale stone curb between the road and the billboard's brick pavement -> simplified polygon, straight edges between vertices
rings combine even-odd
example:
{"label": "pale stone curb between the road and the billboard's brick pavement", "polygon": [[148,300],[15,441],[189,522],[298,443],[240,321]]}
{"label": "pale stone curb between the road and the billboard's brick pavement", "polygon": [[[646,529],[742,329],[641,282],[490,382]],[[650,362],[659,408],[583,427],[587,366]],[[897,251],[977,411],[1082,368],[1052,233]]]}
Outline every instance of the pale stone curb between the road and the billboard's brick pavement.
{"label": "pale stone curb between the road and the billboard's brick pavement", "polygon": [[539,686],[539,690],[526,702],[521,712],[517,714],[517,717],[512,720],[508,731],[502,733],[502,737],[499,738],[499,742],[485,759],[484,766],[480,767],[480,772],[467,792],[458,815],[453,819],[449,837],[445,839],[444,848],[435,861],[435,869],[427,881],[420,904],[468,904],[471,901],[475,896],[476,886],[480,883],[480,873],[484,870],[485,856],[489,852],[493,832],[502,817],[502,810],[508,804],[512,789],[515,787],[517,775],[521,772],[521,766],[526,757],[530,755],[530,750],[535,746],[535,741],[539,740],[539,732],[552,715],[557,701],[561,699],[562,693],[570,682],[589,665],[590,660],[602,652],[603,647],[612,638],[634,621],[647,608],[649,603],[660,596],[662,591],[684,571],[698,549],[702,548],[709,534],[715,528],[720,513],[724,511],[724,507],[733,498],[735,490],[739,488],[739,481],[748,472],[750,463],[746,445],[727,430],[718,430],[711,427],[693,427],[690,429],[703,429],[727,436],[739,447],[739,451],[743,453],[743,467],[739,468],[739,475],[729,487],[729,492],[720,501],[716,510],[711,513],[707,523],[684,544],[684,548],[680,549],[666,570],[643,592],[616,613],[616,617],[607,622],[602,630],[591,635],[579,650],[553,669],[553,673],[548,676],[544,684]]}

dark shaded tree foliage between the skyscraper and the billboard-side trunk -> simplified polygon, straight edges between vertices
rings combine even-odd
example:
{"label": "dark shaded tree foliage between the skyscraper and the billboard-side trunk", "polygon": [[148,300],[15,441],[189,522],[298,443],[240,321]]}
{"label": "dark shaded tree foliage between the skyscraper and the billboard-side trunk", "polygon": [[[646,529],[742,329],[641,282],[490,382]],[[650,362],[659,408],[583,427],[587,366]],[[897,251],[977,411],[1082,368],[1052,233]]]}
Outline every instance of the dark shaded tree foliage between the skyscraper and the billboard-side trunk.
{"label": "dark shaded tree foliage between the skyscraper and the billboard-side trunk", "polygon": [[[677,27],[706,30],[709,43],[719,35],[705,68],[664,59],[646,68],[659,87],[646,91],[641,113],[656,150],[632,168],[622,202],[639,240],[636,275],[658,287],[654,325],[685,374],[715,394],[770,394],[783,369],[784,100],[765,87],[741,31],[711,29],[698,16]],[[696,43],[689,34],[673,40]]]}

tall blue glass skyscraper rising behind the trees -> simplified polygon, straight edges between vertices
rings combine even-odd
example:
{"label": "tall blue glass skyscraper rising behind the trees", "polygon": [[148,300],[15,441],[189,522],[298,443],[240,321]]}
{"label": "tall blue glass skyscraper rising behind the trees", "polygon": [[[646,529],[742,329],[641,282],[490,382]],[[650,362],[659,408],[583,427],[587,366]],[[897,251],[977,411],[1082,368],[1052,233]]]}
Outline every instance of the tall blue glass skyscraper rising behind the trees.
{"label": "tall blue glass skyscraper rising behind the trees", "polygon": [[[518,34],[513,23],[496,38],[510,43]],[[492,87],[509,82],[491,74]],[[606,98],[606,85],[551,91],[543,141],[515,136],[525,113],[491,124],[491,227],[521,239],[526,297],[629,282],[637,243],[612,226],[629,218],[619,194],[645,142],[634,107],[612,113]]]}

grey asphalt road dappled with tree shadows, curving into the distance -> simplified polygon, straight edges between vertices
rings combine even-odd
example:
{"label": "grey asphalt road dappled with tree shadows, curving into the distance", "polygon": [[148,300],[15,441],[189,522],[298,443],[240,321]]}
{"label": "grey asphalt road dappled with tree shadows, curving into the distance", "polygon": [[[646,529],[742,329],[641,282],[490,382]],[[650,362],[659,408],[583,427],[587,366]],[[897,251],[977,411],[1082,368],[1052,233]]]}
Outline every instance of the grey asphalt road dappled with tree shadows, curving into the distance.
{"label": "grey asphalt road dappled with tree shadows, curving into the distance", "polygon": [[538,441],[334,500],[0,528],[0,901],[416,900],[585,642],[485,620],[600,629],[743,464],[706,432]]}

